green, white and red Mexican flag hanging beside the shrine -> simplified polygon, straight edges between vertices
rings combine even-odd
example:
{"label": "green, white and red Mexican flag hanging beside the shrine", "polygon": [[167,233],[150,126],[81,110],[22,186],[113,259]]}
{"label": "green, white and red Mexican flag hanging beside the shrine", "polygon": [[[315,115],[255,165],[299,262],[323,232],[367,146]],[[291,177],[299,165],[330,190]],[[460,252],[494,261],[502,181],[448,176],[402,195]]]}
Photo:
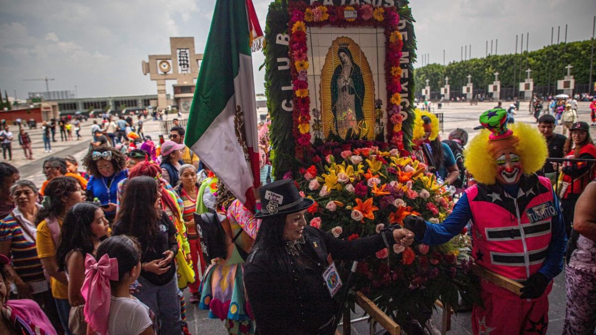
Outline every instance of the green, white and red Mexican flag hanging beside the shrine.
{"label": "green, white and red Mexican flag hanging beside the shrine", "polygon": [[215,5],[184,144],[254,210],[260,173],[251,45],[260,28],[250,1]]}

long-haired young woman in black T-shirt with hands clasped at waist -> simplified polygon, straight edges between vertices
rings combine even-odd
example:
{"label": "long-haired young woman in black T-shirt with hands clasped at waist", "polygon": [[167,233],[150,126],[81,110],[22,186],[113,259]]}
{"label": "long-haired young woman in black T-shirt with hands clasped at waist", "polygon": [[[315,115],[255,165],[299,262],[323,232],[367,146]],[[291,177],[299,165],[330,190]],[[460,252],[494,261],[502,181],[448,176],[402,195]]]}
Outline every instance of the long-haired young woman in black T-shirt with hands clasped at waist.
{"label": "long-haired young woman in black T-shirt with hands clasped at waist", "polygon": [[179,334],[182,328],[174,256],[176,228],[163,213],[159,185],[150,176],[126,183],[114,235],[130,235],[141,245],[142,289],[135,296],[157,314],[160,333]]}

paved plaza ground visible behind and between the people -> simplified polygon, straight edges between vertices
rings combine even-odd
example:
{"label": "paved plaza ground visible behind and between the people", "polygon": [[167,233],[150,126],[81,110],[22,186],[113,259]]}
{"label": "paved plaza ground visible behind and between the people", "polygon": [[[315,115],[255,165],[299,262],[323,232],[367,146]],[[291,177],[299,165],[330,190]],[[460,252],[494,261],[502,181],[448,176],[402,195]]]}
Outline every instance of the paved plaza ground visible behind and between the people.
{"label": "paved plaza ground visible behind and between the people", "polygon": [[[504,107],[508,107],[510,103],[504,102]],[[444,119],[444,131],[441,134],[443,139],[446,139],[449,132],[455,128],[463,128],[470,134],[470,137],[477,134],[473,128],[478,125],[478,117],[482,111],[488,110],[496,106],[496,103],[479,103],[477,105],[470,105],[469,103],[449,103],[443,104],[441,109],[437,109],[437,104],[434,103],[434,112],[442,112]],[[589,122],[589,103],[579,103],[578,120]],[[523,103],[520,106],[520,111],[517,112],[516,122],[535,123],[535,119],[529,114],[528,103]],[[175,116],[170,115],[169,119]],[[184,115],[185,119],[187,115]],[[101,119],[97,119],[100,122]],[[154,140],[158,139],[160,135],[160,122],[151,120],[151,117],[144,119],[145,135],[150,135]],[[18,145],[16,138],[17,127],[11,126],[11,131],[15,134],[13,141],[13,160],[10,162],[20,170],[21,179],[30,179],[37,185],[41,185],[45,180],[42,173],[42,162],[48,156],[66,156],[68,154],[75,156],[80,161],[85,156],[89,141],[91,140],[91,125],[92,119],[84,122],[80,134],[83,136],[79,141],[60,141],[60,134],[56,134],[57,142],[52,142],[53,153],[44,153],[44,144],[41,135],[41,124],[38,124],[37,129],[27,129],[33,141],[33,157],[35,160],[26,160]],[[558,126],[556,132],[561,132],[561,127]],[[592,138],[596,138],[596,127],[591,127]],[[76,138],[76,136],[75,136]],[[82,166],[80,169],[83,169]],[[555,278],[554,287],[550,294],[550,322],[548,334],[560,334],[563,328],[563,319],[565,312],[566,293],[564,285],[564,273]],[[188,290],[185,290],[188,297]],[[280,297],[282,299],[282,297]],[[193,334],[226,334],[224,324],[219,320],[209,319],[208,311],[201,311],[197,305],[191,305],[187,300],[187,314],[188,325]],[[362,314],[354,314],[352,318],[359,318]],[[440,313],[434,313],[434,323],[440,327]],[[378,327],[377,327],[378,329]],[[452,317],[452,334],[471,334],[470,313],[460,313]],[[352,334],[368,334],[368,324],[366,321],[358,322],[352,327]]]}

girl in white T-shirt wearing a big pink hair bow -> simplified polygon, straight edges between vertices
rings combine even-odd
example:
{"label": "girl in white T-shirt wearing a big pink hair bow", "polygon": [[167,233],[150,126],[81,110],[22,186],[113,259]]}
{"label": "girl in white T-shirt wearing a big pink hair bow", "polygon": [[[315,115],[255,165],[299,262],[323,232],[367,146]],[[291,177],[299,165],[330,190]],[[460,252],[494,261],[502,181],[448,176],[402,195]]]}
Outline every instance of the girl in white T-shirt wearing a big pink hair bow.
{"label": "girl in white T-shirt wearing a big pink hair bow", "polygon": [[81,290],[89,328],[99,335],[155,334],[153,313],[129,291],[141,274],[138,242],[126,235],[108,237],[97,248],[97,259],[86,255]]}

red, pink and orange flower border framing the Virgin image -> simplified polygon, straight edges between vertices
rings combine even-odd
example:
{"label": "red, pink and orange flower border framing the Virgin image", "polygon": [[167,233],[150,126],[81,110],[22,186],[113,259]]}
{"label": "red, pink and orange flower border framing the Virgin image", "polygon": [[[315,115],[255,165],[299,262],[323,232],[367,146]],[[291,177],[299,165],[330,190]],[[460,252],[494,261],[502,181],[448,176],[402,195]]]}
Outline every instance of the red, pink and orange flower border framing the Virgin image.
{"label": "red, pink and orange flower border framing the Virgin image", "polygon": [[385,73],[387,83],[387,142],[403,150],[401,111],[401,76],[403,37],[398,31],[399,14],[395,7],[373,7],[360,5],[308,5],[304,2],[290,2],[288,6],[288,32],[290,41],[288,54],[291,60],[291,83],[293,100],[293,135],[296,141],[296,158],[302,160],[305,151],[311,148],[311,100],[308,88],[308,45],[307,26],[371,26],[384,27],[386,36]]}

